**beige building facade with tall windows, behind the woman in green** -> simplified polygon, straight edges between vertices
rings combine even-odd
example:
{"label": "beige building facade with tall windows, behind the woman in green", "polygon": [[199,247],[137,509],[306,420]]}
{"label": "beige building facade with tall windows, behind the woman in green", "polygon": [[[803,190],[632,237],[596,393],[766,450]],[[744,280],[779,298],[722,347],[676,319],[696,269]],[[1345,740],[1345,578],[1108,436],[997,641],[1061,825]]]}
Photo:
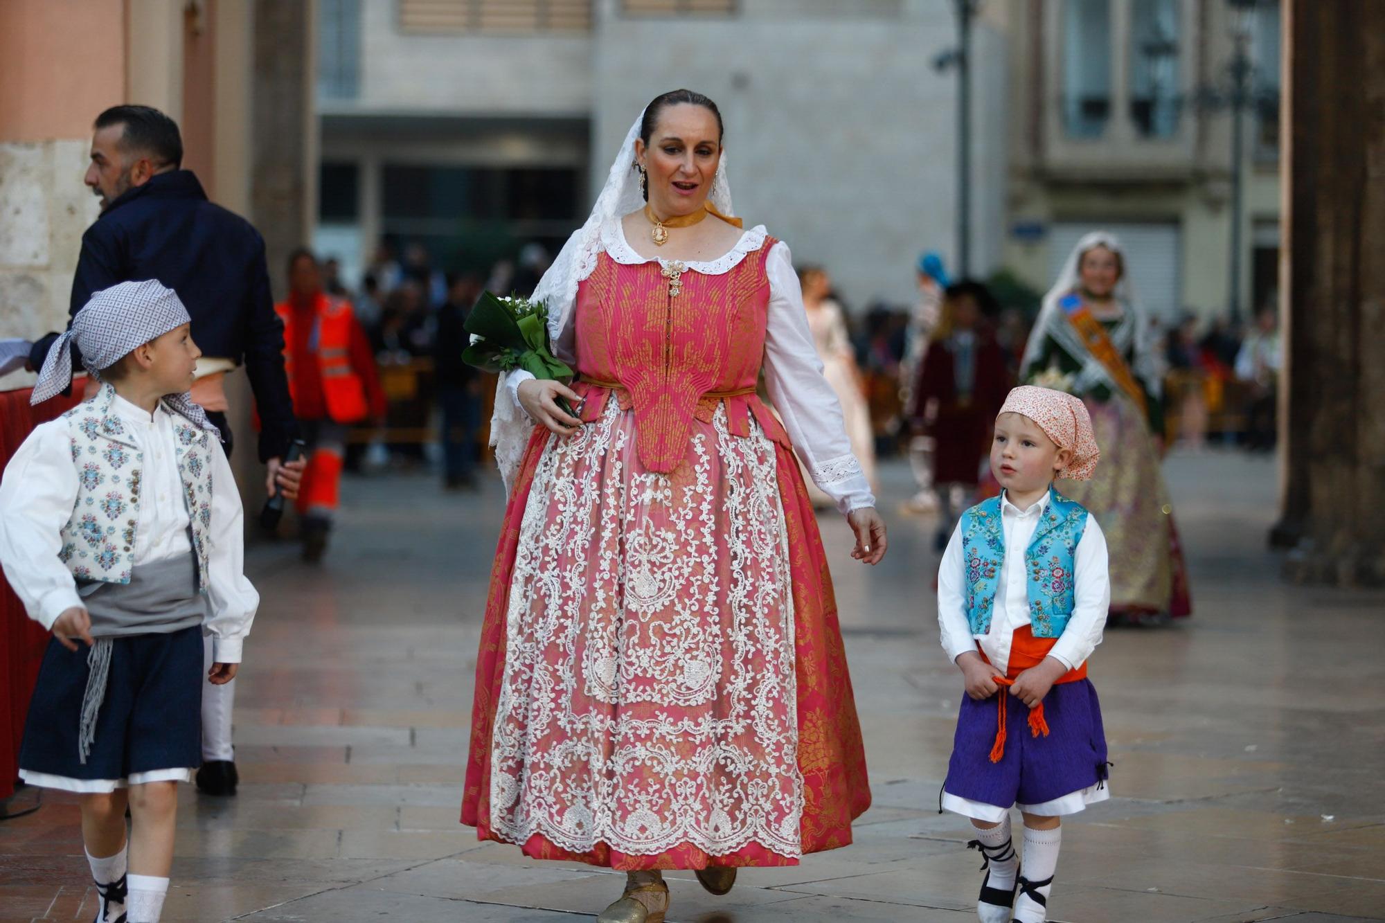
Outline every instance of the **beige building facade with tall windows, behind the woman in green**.
{"label": "beige building facade with tall windows, behind the woman in green", "polygon": [[1046,290],[1076,240],[1118,233],[1150,312],[1227,316],[1237,36],[1242,112],[1241,316],[1273,306],[1280,247],[1280,4],[1259,0],[989,3],[1010,36],[1001,262]]}

